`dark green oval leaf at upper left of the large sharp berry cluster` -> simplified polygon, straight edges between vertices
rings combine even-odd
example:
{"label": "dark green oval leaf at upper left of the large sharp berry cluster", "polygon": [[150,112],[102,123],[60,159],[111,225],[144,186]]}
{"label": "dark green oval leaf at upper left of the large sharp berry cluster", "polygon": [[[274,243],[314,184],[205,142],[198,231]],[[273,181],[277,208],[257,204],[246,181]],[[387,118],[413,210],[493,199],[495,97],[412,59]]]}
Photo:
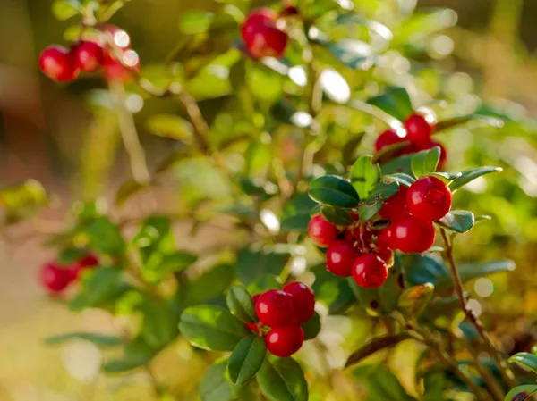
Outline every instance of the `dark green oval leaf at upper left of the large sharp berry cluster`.
{"label": "dark green oval leaf at upper left of the large sharp berry cluster", "polygon": [[351,183],[335,175],[313,180],[309,195],[314,201],[330,206],[355,207],[360,202],[360,196]]}

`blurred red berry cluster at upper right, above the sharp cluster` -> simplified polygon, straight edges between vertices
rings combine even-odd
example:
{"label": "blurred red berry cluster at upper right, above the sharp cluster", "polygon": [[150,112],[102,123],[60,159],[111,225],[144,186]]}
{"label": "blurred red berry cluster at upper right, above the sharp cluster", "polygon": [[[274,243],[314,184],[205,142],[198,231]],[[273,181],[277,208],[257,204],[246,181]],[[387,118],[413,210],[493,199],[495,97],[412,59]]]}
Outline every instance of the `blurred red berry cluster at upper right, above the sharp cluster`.
{"label": "blurred red berry cluster at upper right, above the sharp cluster", "polygon": [[375,151],[395,145],[404,141],[410,141],[410,145],[405,146],[398,155],[410,155],[421,150],[431,149],[434,146],[440,148],[439,170],[442,170],[447,161],[446,148],[430,136],[436,128],[436,123],[432,113],[413,113],[405,120],[405,131],[388,129],[379,135],[375,142]]}

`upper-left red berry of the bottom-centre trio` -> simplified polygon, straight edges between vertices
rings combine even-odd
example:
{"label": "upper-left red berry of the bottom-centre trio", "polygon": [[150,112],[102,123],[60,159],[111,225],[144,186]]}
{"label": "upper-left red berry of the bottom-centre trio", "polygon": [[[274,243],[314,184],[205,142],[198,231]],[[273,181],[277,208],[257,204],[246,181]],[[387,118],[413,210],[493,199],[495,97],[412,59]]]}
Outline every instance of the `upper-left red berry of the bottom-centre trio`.
{"label": "upper-left red berry of the bottom-centre trio", "polygon": [[294,323],[294,300],[290,294],[277,289],[269,289],[261,294],[255,305],[260,322],[269,327]]}

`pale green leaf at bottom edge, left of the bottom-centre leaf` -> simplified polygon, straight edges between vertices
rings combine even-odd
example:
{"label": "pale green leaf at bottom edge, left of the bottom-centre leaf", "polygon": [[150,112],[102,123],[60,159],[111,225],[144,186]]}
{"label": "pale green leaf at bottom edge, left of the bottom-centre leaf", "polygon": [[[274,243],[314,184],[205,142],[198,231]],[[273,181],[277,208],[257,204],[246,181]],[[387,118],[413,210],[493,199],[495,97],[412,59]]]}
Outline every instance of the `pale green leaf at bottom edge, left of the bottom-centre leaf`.
{"label": "pale green leaf at bottom edge, left of the bottom-centre leaf", "polygon": [[227,358],[220,359],[209,367],[203,375],[200,384],[202,401],[231,401],[240,391],[240,386],[234,386],[227,375]]}

